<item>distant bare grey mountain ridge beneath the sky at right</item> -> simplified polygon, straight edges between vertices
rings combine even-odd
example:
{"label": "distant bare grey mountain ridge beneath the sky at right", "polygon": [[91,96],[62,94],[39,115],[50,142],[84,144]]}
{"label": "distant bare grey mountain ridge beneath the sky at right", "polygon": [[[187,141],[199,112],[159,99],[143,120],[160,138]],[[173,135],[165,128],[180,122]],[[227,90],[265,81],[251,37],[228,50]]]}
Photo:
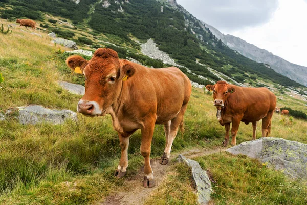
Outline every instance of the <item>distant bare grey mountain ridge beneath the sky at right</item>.
{"label": "distant bare grey mountain ridge beneath the sky at right", "polygon": [[247,43],[241,38],[229,34],[224,35],[213,26],[206,23],[204,23],[204,25],[229,48],[236,50],[241,55],[259,63],[269,64],[276,72],[307,86],[307,67],[292,64],[279,56],[273,55],[265,49],[260,49],[253,44]]}

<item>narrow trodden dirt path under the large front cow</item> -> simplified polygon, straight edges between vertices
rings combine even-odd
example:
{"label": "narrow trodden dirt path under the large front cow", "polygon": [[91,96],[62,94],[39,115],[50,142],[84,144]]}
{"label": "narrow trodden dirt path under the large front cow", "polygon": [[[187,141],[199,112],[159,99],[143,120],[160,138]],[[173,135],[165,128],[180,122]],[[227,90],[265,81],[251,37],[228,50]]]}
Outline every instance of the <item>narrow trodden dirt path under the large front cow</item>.
{"label": "narrow trodden dirt path under the large front cow", "polygon": [[223,151],[225,151],[224,148],[216,147],[215,149],[195,148],[180,153],[173,153],[167,165],[160,165],[159,163],[160,158],[152,159],[150,162],[151,162],[151,168],[153,170],[153,175],[155,176],[155,183],[156,183],[155,187],[152,188],[143,187],[142,180],[144,177],[144,173],[143,170],[140,170],[140,172],[137,175],[131,178],[126,178],[126,184],[131,189],[129,189],[128,191],[114,192],[111,195],[107,196],[105,201],[100,204],[101,205],[143,204],[145,199],[152,193],[152,191],[156,190],[161,184],[161,182],[166,178],[167,168],[173,164],[171,160],[175,157],[177,158],[179,154],[182,154],[188,158],[193,158],[196,156],[204,156]]}

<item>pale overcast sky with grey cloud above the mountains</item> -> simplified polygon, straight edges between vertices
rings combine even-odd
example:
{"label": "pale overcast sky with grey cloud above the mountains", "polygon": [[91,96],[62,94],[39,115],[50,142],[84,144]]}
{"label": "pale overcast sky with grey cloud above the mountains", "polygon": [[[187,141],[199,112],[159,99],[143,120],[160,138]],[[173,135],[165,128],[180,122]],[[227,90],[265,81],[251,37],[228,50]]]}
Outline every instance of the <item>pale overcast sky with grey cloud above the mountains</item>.
{"label": "pale overcast sky with grey cloud above the mountains", "polygon": [[307,66],[307,0],[177,0],[224,34]]}

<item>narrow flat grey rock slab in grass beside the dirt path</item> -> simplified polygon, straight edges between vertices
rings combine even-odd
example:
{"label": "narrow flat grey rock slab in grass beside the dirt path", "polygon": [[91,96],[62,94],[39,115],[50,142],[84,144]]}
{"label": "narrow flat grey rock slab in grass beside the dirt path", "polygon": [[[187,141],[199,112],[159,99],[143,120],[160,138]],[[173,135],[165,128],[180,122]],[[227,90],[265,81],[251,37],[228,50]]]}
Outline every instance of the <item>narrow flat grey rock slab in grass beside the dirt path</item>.
{"label": "narrow flat grey rock slab in grass beside the dirt path", "polygon": [[177,161],[184,162],[192,168],[193,179],[196,183],[197,196],[199,204],[207,204],[210,201],[210,194],[212,191],[211,182],[207,172],[201,168],[197,161],[187,159],[181,154]]}

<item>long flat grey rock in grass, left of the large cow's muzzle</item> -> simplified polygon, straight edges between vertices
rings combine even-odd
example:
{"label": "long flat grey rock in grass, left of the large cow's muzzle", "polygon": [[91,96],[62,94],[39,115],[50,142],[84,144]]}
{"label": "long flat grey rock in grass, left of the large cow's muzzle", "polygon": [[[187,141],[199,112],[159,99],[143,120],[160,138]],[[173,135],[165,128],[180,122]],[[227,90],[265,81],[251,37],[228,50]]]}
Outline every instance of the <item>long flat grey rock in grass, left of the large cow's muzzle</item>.
{"label": "long flat grey rock in grass, left of the large cow's muzzle", "polygon": [[20,124],[39,124],[50,122],[63,124],[66,119],[77,119],[77,114],[71,110],[53,110],[39,105],[30,105],[7,110],[7,116],[16,116]]}

